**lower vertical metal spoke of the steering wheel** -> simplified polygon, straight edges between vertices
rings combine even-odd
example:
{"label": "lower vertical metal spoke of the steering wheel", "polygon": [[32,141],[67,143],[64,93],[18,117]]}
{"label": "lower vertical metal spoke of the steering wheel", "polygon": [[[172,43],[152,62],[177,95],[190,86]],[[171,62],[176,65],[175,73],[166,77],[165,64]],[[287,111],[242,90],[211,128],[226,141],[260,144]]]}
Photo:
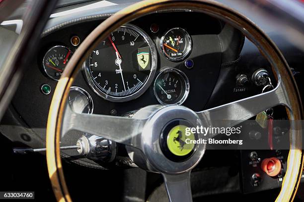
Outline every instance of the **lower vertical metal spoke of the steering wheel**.
{"label": "lower vertical metal spoke of the steering wheel", "polygon": [[162,173],[170,202],[192,202],[190,171],[169,175]]}

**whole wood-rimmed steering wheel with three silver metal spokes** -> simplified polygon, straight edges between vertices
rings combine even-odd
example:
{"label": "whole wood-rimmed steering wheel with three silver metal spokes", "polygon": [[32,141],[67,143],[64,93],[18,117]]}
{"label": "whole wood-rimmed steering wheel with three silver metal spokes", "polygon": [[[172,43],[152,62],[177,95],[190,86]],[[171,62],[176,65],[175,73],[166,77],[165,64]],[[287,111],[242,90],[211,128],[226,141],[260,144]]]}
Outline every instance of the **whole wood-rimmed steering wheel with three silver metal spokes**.
{"label": "whole wood-rimmed steering wheel with three silver metal spokes", "polygon": [[[241,30],[269,60],[278,85],[267,93],[199,112],[180,105],[151,105],[140,109],[133,118],[127,118],[79,114],[66,107],[69,89],[78,70],[95,46],[119,26],[143,15],[166,10],[203,12]],[[299,91],[286,60],[274,43],[245,16],[211,0],[147,0],[133,4],[106,19],[87,36],[57,84],[47,124],[47,164],[53,191],[58,201],[71,201],[62,169],[60,138],[70,130],[78,130],[126,145],[132,153],[131,159],[139,167],[161,173],[171,202],[191,202],[190,172],[203,157],[205,146],[195,145],[190,157],[178,161],[166,156],[161,150],[161,134],[169,127],[167,123],[185,120],[193,126],[217,127],[217,120],[240,120],[230,122],[229,127],[232,127],[276,105],[286,106],[290,120],[303,119]],[[292,130],[287,172],[277,201],[292,201],[295,197],[303,169],[301,148],[301,132]]]}

